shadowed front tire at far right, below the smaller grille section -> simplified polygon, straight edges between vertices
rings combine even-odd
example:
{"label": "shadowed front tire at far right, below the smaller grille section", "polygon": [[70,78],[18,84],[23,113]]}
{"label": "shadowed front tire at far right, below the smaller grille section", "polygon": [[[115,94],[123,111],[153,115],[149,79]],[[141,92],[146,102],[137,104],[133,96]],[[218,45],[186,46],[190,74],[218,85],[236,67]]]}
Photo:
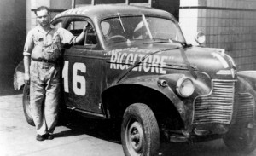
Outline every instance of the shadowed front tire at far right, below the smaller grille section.
{"label": "shadowed front tire at far right, below the smaller grille section", "polygon": [[251,153],[256,148],[255,129],[232,129],[224,136],[224,143],[238,153]]}

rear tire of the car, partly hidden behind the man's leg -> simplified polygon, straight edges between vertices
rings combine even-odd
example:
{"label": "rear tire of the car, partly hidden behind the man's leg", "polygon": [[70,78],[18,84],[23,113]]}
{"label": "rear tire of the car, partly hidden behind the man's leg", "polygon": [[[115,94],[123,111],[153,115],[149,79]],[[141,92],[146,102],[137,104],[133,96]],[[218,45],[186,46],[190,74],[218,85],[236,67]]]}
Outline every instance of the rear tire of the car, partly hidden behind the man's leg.
{"label": "rear tire of the car, partly hidden behind the man's leg", "polygon": [[22,97],[23,111],[25,114],[26,122],[32,126],[34,126],[34,121],[32,119],[31,109],[30,109],[30,91],[29,85],[25,85],[23,89],[23,97]]}

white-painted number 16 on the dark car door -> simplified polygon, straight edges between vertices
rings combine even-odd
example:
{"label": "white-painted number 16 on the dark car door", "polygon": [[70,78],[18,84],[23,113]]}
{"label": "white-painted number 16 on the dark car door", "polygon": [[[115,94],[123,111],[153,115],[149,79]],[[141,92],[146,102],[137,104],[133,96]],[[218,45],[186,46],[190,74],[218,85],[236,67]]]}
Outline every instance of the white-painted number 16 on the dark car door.
{"label": "white-painted number 16 on the dark car door", "polygon": [[[68,85],[68,66],[69,62],[65,61],[63,70],[62,70],[62,78],[64,83],[64,91],[69,93],[69,85]],[[84,76],[81,73],[86,72],[86,66],[84,63],[74,63],[73,64],[73,92],[76,95],[85,95],[86,94],[86,81]]]}

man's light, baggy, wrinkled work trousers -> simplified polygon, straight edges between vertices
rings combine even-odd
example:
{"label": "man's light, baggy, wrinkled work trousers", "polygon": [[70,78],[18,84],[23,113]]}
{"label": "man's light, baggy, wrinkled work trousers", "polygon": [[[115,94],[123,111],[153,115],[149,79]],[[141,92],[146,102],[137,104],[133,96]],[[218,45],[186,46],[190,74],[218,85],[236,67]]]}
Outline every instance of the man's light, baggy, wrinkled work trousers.
{"label": "man's light, baggy, wrinkled work trousers", "polygon": [[60,66],[31,61],[30,104],[38,135],[52,134],[57,124],[60,99]]}

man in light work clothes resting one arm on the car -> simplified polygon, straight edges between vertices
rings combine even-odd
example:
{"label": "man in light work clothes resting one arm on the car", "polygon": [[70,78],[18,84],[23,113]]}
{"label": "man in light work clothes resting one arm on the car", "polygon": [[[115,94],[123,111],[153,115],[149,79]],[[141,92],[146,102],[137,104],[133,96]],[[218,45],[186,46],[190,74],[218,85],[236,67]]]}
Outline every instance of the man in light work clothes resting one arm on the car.
{"label": "man in light work clothes resting one arm on the car", "polygon": [[38,134],[36,139],[44,141],[54,138],[52,134],[57,122],[61,46],[82,41],[88,23],[75,38],[67,30],[50,25],[49,8],[39,7],[35,14],[38,26],[28,32],[23,52],[25,84],[30,84],[31,112]]}

